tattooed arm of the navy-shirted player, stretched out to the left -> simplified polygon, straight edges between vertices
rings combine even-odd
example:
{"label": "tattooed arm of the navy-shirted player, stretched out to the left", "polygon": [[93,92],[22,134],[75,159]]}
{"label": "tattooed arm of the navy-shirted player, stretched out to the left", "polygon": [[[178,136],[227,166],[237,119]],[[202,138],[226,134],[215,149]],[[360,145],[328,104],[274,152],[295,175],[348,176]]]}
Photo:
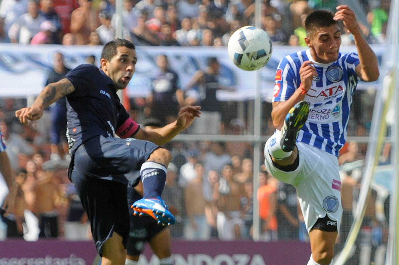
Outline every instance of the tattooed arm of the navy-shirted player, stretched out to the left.
{"label": "tattooed arm of the navy-shirted player, stretched out to the left", "polygon": [[56,83],[48,84],[40,92],[32,106],[19,109],[15,112],[15,117],[20,119],[20,122],[24,124],[28,123],[28,120],[36,121],[43,115],[43,109],[73,91],[75,91],[75,88],[71,81],[66,78]]}

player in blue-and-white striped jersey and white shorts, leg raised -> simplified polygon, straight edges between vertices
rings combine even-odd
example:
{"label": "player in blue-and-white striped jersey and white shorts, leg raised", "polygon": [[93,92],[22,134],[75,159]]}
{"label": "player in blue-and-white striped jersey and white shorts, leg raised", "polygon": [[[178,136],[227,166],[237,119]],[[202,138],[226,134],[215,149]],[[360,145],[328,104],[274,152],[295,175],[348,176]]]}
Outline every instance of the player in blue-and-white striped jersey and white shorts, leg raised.
{"label": "player in blue-and-white striped jersey and white shorts, leg raised", "polygon": [[[353,34],[358,53],[340,53],[338,21]],[[296,187],[309,232],[308,265],[332,263],[342,217],[338,152],[345,144],[350,106],[359,79],[379,77],[377,57],[354,12],[316,10],[305,20],[309,49],[284,57],[275,78],[273,125],[265,166]]]}

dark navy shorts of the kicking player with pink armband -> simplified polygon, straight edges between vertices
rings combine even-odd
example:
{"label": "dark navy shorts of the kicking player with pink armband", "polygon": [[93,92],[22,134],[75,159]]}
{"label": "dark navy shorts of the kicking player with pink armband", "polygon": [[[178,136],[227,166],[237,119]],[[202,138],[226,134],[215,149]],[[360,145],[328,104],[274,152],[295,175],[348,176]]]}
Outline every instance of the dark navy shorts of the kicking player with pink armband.
{"label": "dark navy shorts of the kicking player with pink armband", "polygon": [[103,243],[114,231],[123,237],[126,246],[129,233],[126,184],[140,177],[141,165],[158,147],[144,140],[95,136],[72,155],[69,179],[75,184],[90,220],[100,256]]}

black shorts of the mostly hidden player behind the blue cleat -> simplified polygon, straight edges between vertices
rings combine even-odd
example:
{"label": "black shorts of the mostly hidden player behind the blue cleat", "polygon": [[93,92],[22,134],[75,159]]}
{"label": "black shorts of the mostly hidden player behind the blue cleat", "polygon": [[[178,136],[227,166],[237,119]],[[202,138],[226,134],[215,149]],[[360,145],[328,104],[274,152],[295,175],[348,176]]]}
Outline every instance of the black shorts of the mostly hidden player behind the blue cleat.
{"label": "black shorts of the mostly hidden player behind the blue cleat", "polygon": [[144,249],[145,242],[148,242],[166,226],[158,225],[156,220],[150,216],[134,216],[130,206],[138,198],[134,198],[133,187],[128,185],[128,209],[130,216],[130,232],[127,240],[126,250],[130,256],[138,256]]}

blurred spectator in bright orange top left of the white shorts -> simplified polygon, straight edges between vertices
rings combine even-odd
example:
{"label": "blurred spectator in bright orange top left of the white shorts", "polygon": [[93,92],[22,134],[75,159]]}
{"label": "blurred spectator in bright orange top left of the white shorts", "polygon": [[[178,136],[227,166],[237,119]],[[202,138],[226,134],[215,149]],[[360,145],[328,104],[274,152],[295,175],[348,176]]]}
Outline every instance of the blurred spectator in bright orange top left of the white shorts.
{"label": "blurred spectator in bright orange top left of the white shorts", "polygon": [[259,172],[259,217],[261,218],[261,241],[277,241],[277,195],[276,187],[269,181],[267,171]]}

